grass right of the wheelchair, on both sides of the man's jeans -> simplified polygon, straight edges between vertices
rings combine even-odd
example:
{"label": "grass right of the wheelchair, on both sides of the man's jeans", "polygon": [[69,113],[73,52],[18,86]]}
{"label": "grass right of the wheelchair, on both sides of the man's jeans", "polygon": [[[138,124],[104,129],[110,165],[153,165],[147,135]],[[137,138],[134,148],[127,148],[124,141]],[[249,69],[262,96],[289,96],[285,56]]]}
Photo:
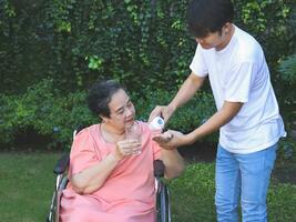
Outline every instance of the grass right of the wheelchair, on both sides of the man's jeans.
{"label": "grass right of the wheelchair, on both sides of the man's jeans", "polygon": [[[173,222],[215,222],[214,163],[190,164],[172,181]],[[268,222],[296,222],[296,185],[272,179],[268,196]]]}

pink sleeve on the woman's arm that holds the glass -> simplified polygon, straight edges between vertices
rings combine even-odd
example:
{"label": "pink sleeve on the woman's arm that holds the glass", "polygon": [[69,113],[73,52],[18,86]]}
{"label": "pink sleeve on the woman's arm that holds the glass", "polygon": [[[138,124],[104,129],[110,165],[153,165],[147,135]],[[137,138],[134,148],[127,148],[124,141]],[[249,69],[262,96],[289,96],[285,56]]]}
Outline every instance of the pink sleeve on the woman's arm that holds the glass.
{"label": "pink sleeve on the woman's arm that holds the glass", "polygon": [[100,161],[95,152],[95,142],[88,129],[74,139],[70,153],[70,175],[79,173]]}

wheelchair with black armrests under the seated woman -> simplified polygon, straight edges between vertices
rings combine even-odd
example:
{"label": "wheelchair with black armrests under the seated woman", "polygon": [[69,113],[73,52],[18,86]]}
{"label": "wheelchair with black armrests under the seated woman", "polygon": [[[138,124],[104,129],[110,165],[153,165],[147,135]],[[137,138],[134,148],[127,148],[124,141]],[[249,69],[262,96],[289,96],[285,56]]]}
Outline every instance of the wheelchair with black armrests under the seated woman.
{"label": "wheelchair with black armrests under the seated woman", "polygon": [[[80,128],[80,130],[82,129],[83,128]],[[74,131],[73,138],[80,130]],[[47,222],[60,221],[60,202],[62,198],[62,191],[65,189],[69,182],[69,163],[70,153],[65,153],[60,160],[58,160],[53,168],[53,172],[57,175],[57,179]],[[153,162],[153,167],[156,188],[156,222],[171,222],[170,190],[164,179],[165,167],[161,160],[155,160]]]}

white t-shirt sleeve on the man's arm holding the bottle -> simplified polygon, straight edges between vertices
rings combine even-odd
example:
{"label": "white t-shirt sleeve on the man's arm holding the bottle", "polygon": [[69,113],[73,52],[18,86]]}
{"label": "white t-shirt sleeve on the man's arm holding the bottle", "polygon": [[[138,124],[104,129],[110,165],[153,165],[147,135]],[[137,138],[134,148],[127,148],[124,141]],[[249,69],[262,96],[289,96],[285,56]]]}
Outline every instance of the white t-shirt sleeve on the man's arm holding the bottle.
{"label": "white t-shirt sleeve on the man's arm holding the bottle", "polygon": [[196,47],[196,51],[190,64],[190,69],[194,74],[202,78],[206,77],[208,73],[206,63],[202,54],[202,47],[200,44],[197,44]]}

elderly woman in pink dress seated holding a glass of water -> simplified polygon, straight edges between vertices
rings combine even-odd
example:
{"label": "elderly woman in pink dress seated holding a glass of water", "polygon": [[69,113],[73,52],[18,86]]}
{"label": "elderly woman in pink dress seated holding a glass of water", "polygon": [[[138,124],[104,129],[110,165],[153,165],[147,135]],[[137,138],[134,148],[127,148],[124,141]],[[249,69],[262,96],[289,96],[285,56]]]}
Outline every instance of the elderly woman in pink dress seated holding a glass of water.
{"label": "elderly woman in pink dress seated holding a glass of water", "polygon": [[[184,163],[176,150],[163,150],[153,141],[126,91],[115,81],[93,84],[90,110],[102,119],[82,130],[70,154],[70,183],[61,200],[63,222],[154,222],[153,161],[163,160],[165,176],[178,176]],[[141,135],[126,138],[137,125]]]}

